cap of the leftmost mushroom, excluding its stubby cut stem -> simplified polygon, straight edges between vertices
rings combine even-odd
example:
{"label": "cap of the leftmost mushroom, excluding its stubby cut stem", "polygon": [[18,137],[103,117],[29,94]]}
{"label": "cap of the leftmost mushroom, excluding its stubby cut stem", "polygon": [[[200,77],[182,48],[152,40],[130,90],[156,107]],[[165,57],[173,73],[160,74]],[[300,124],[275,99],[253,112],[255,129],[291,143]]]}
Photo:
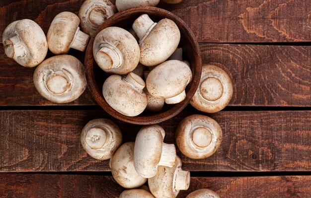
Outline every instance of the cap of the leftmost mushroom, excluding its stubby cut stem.
{"label": "cap of the leftmost mushroom, excluding its stubby cut stem", "polygon": [[48,42],[41,27],[29,19],[17,20],[10,23],[2,34],[2,43],[5,54],[8,57],[14,56],[10,42],[6,42],[14,36],[18,37],[25,54],[14,57],[14,60],[24,67],[35,67],[46,57],[48,52]]}

